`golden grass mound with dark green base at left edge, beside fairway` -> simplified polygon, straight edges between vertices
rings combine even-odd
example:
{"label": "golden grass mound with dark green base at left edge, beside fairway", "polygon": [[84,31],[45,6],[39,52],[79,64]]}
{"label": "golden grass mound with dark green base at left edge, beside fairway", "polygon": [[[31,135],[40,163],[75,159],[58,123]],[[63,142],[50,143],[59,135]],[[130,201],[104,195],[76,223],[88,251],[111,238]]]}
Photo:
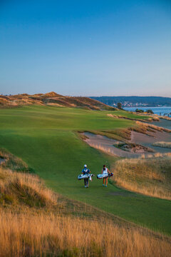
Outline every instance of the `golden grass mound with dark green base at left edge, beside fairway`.
{"label": "golden grass mound with dark green base at left edge, beside fairway", "polygon": [[57,196],[46,188],[38,176],[18,173],[0,167],[0,203],[49,206],[56,204]]}

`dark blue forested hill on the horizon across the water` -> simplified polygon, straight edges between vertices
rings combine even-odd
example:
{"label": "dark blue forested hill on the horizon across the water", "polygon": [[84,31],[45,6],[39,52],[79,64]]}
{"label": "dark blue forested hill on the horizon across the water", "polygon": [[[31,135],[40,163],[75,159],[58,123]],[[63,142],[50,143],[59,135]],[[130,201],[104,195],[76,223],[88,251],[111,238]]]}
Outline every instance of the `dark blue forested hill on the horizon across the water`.
{"label": "dark blue forested hill on the horizon across the water", "polygon": [[91,99],[101,101],[103,104],[113,106],[113,104],[129,102],[132,104],[147,104],[146,106],[171,106],[170,97],[161,96],[90,96]]}

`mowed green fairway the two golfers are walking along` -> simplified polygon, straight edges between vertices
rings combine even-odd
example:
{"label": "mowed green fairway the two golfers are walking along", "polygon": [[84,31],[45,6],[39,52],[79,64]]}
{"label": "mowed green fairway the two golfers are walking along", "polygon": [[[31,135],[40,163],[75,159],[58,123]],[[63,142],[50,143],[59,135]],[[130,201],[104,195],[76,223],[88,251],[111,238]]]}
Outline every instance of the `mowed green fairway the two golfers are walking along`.
{"label": "mowed green fairway the two golfers are walking along", "polygon": [[103,188],[97,178],[86,189],[83,181],[77,180],[83,164],[87,163],[98,174],[104,163],[110,167],[115,158],[90,148],[76,131],[134,125],[133,121],[111,118],[107,116],[109,113],[50,106],[1,109],[0,146],[26,161],[58,193],[171,234],[170,201],[130,193],[110,183],[108,188]]}

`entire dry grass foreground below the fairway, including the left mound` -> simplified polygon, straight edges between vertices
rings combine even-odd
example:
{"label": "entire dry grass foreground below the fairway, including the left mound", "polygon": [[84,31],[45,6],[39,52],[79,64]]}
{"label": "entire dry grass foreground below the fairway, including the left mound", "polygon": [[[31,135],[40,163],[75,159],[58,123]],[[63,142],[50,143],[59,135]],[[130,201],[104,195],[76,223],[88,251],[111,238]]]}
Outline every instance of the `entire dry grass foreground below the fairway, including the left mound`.
{"label": "entire dry grass foreground below the fairway, including the left mound", "polygon": [[78,218],[63,211],[65,201],[35,175],[0,168],[0,199],[2,257],[170,256],[170,238],[108,216]]}

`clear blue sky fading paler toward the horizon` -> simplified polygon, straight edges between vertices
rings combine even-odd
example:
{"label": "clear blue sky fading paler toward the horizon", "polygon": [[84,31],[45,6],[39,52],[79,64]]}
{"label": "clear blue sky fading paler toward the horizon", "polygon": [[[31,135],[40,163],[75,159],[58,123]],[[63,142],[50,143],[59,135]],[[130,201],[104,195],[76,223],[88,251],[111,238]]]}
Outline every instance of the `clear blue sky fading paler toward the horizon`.
{"label": "clear blue sky fading paler toward the horizon", "polygon": [[170,96],[171,0],[0,0],[0,93]]}

